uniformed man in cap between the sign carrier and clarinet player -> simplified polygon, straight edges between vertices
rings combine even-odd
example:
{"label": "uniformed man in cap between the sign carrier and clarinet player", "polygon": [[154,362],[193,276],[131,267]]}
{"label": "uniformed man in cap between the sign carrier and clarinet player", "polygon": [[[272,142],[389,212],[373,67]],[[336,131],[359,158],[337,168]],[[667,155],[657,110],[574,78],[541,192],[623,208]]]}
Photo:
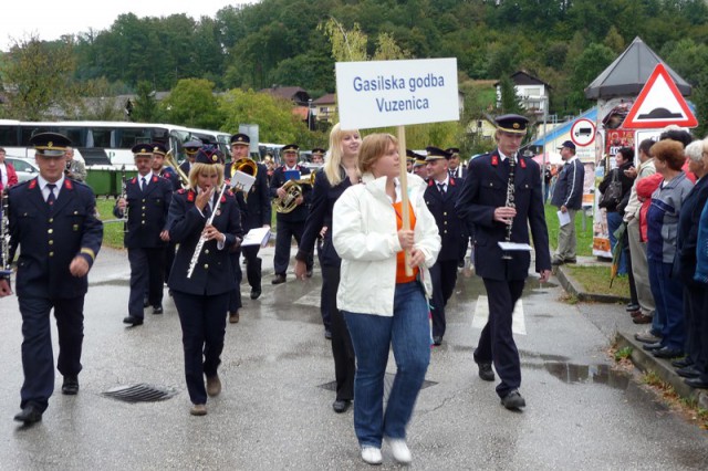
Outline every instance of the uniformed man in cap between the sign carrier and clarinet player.
{"label": "uniformed man in cap between the sign carrier and clarinet player", "polygon": [[448,175],[447,164],[450,159],[448,151],[437,147],[427,147],[426,151],[430,178],[424,197],[428,210],[438,226],[442,245],[437,261],[430,266],[433,343],[440,345],[445,335],[445,306],[455,291],[455,283],[457,283],[457,259],[462,222],[455,211],[455,202],[461,186],[457,179]]}

